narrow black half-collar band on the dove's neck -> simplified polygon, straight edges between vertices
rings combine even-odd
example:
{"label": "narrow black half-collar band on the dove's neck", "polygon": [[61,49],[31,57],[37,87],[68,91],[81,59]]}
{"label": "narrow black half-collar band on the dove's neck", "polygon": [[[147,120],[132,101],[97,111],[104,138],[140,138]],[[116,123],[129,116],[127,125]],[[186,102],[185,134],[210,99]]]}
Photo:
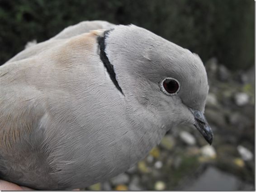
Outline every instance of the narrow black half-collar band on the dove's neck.
{"label": "narrow black half-collar band on the dove's neck", "polygon": [[116,75],[114,72],[114,66],[109,62],[109,58],[107,57],[106,52],[105,52],[105,48],[106,48],[105,39],[106,39],[106,36],[108,35],[108,33],[112,30],[111,29],[106,30],[106,31],[104,31],[104,35],[102,37],[98,37],[98,44],[99,44],[99,48],[100,48],[100,59],[103,62],[104,67],[107,69],[110,79],[113,81],[116,88],[123,94],[123,91],[122,91],[121,87],[119,86],[119,84],[116,80],[116,77],[115,77]]}

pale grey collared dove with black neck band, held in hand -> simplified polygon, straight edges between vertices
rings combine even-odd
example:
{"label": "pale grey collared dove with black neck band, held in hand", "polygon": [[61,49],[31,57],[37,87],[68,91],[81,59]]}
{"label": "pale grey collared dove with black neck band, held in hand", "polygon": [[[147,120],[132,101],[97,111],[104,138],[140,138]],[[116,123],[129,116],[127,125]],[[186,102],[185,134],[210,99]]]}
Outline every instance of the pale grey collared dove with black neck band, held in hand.
{"label": "pale grey collared dove with black neck band, held in hand", "polygon": [[78,23],[0,66],[0,178],[88,187],[132,167],[180,124],[211,144],[208,92],[188,49],[133,24]]}

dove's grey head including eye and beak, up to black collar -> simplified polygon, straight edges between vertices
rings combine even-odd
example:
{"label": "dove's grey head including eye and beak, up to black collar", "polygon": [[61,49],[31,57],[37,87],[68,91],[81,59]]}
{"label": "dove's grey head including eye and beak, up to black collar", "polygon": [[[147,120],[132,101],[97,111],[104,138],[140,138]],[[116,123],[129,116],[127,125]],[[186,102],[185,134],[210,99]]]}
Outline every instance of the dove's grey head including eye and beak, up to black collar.
{"label": "dove's grey head including eye and beak, up to black collar", "polygon": [[135,25],[118,25],[102,40],[115,84],[128,100],[138,101],[168,128],[193,124],[212,143],[204,117],[209,85],[198,55]]}

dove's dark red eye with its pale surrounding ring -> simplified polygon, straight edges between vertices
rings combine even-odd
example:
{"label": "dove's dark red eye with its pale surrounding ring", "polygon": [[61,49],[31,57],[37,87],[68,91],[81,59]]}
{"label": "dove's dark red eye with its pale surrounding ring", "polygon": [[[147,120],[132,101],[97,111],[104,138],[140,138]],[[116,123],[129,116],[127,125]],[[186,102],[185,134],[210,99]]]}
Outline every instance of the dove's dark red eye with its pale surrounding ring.
{"label": "dove's dark red eye with its pale surrounding ring", "polygon": [[167,95],[175,95],[180,90],[180,83],[171,77],[166,77],[161,81],[161,90]]}

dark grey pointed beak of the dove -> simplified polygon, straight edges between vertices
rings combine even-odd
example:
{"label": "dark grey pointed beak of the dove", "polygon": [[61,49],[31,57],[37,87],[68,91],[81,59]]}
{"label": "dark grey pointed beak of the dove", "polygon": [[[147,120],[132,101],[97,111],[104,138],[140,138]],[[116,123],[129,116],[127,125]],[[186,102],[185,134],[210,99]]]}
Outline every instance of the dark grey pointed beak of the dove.
{"label": "dark grey pointed beak of the dove", "polygon": [[206,121],[204,114],[196,109],[190,108],[190,110],[194,115],[194,126],[204,136],[204,139],[211,145],[213,142],[213,131]]}

